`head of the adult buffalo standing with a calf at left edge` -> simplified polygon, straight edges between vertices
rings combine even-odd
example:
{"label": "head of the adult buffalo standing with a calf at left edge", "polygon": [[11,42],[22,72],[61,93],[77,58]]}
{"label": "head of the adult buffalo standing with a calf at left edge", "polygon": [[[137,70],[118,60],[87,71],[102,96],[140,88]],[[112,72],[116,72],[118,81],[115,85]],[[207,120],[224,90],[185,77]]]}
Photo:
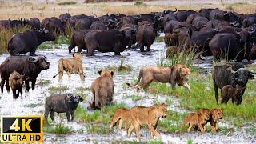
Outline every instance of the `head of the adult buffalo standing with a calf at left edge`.
{"label": "head of the adult buffalo standing with a calf at left edge", "polygon": [[50,62],[47,62],[45,56],[39,56],[38,58],[30,57],[29,62],[36,64],[41,70],[47,70],[50,67]]}

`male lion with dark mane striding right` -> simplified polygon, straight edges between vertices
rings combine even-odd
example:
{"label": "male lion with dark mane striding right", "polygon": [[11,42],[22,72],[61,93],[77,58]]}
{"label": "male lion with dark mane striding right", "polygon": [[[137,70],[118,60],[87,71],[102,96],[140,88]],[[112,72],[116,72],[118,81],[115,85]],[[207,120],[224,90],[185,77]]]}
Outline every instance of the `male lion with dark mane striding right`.
{"label": "male lion with dark mane striding right", "polygon": [[[127,86],[138,85],[138,90],[143,88],[148,90],[151,82],[170,82],[172,88],[178,84],[178,86],[184,86],[187,90],[190,90],[190,86],[186,83],[190,78],[190,69],[183,65],[174,65],[171,67],[164,66],[146,66],[143,67],[138,75],[138,81],[134,85],[126,83]],[[138,82],[140,82],[138,84]]]}

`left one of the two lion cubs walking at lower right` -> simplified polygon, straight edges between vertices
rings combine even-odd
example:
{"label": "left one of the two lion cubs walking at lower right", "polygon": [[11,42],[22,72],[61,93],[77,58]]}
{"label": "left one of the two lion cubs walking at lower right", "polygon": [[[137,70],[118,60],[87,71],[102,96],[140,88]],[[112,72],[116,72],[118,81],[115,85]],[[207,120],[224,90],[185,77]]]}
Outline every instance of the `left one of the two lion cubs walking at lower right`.
{"label": "left one of the two lion cubs walking at lower right", "polygon": [[191,128],[199,128],[204,133],[206,130],[207,121],[210,119],[210,110],[202,109],[198,113],[189,113],[183,121],[183,126],[189,125],[187,132],[190,132]]}

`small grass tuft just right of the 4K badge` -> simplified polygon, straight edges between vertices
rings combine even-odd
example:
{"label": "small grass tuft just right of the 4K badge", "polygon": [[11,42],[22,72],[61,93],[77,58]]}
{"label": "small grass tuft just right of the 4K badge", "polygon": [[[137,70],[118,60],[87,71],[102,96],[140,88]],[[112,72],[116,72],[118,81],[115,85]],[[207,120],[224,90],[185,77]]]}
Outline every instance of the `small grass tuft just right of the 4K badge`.
{"label": "small grass tuft just right of the 4K badge", "polygon": [[56,126],[44,126],[43,131],[50,134],[70,134],[72,130],[68,126],[58,124]]}

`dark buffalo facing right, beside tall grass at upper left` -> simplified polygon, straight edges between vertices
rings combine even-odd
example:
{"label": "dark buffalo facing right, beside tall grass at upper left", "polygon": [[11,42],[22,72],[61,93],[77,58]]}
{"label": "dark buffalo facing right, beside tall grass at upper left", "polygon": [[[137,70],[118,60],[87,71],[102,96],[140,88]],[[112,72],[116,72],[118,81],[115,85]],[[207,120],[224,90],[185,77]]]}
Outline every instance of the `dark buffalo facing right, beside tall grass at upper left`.
{"label": "dark buffalo facing right, beside tall grass at upper left", "polygon": [[8,41],[8,51],[11,55],[34,54],[37,47],[46,41],[54,41],[54,35],[49,30],[30,30],[21,34],[14,34]]}

